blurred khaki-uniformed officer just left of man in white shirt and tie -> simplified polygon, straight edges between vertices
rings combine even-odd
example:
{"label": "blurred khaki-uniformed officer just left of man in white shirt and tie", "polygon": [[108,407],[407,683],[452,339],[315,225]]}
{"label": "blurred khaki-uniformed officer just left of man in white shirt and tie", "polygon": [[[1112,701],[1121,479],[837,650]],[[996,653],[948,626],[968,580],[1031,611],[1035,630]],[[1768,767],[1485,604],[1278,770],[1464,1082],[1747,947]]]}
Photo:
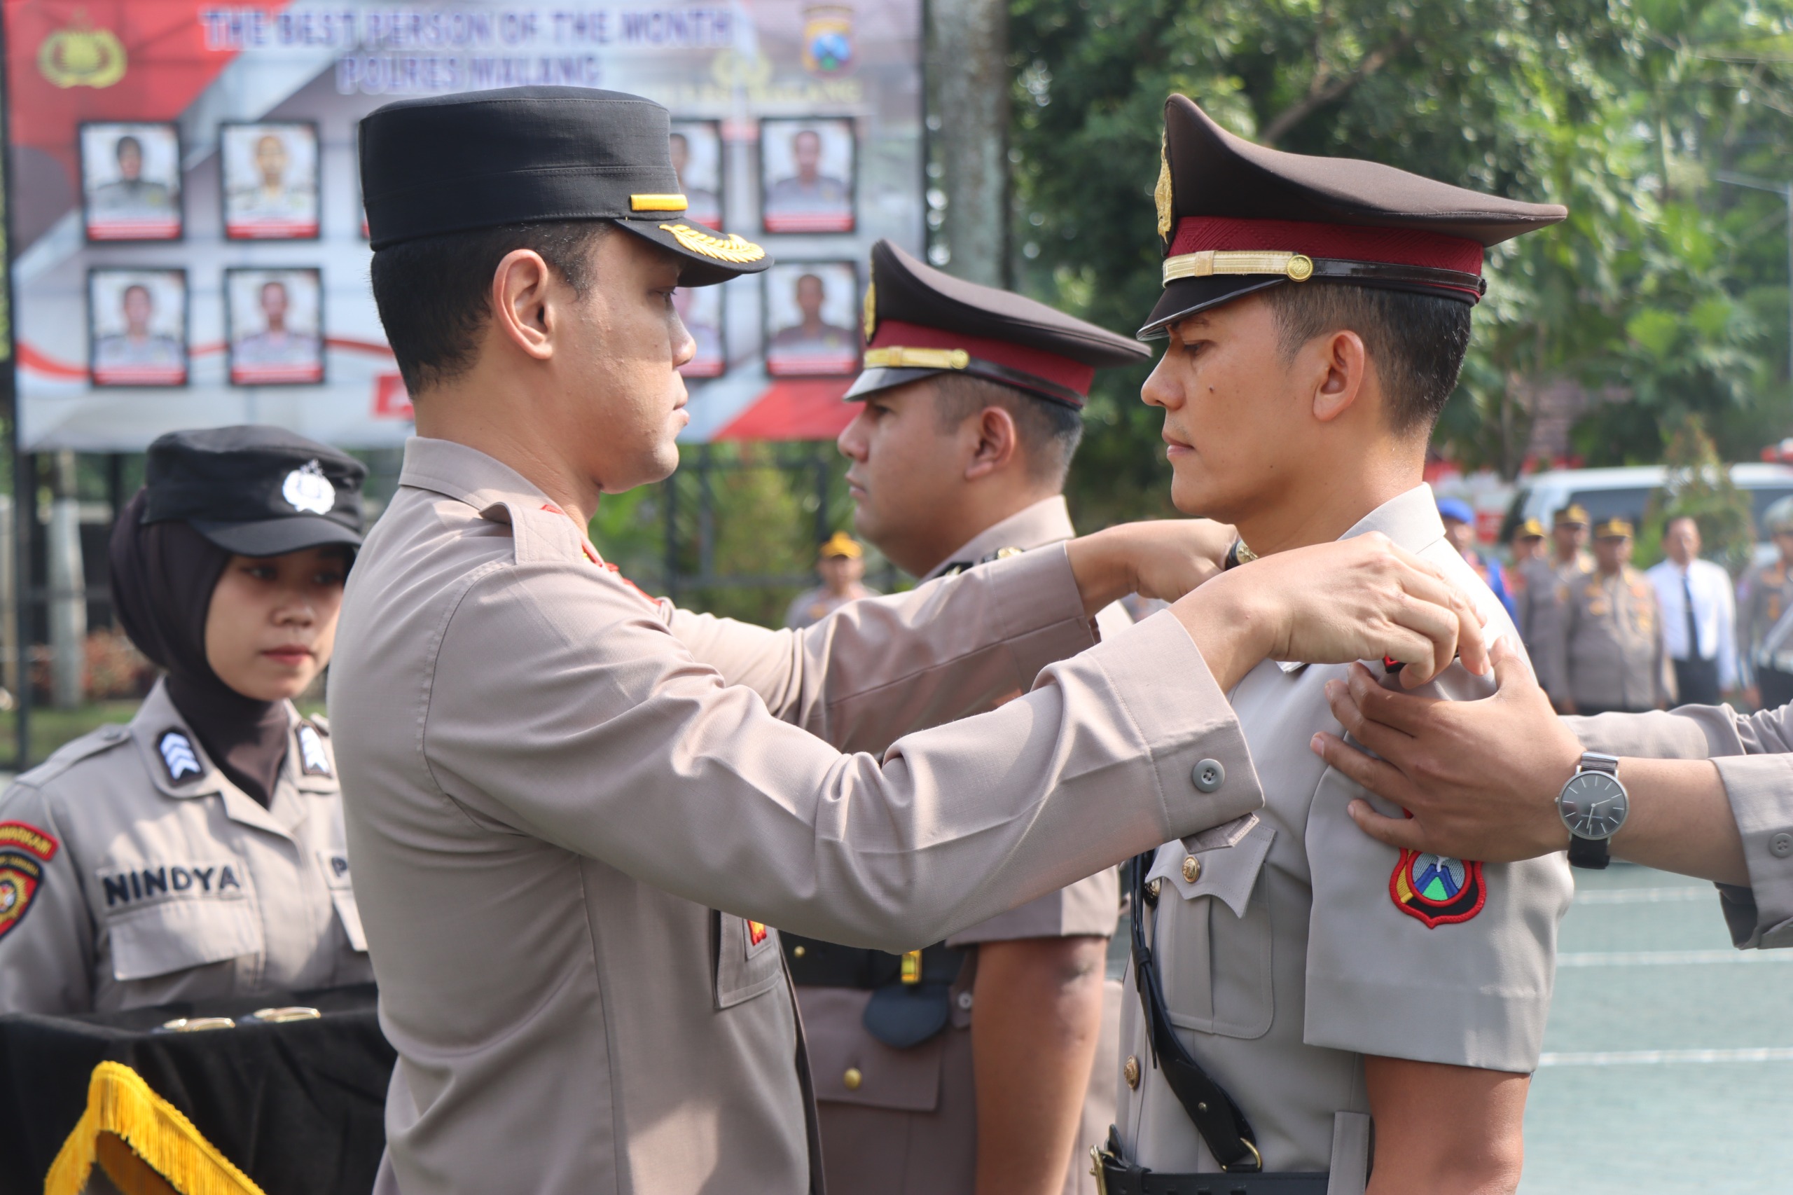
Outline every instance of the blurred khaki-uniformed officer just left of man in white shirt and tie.
{"label": "blurred khaki-uniformed officer just left of man in white shirt and tie", "polygon": [[1632,567],[1632,524],[1594,531],[1594,571],[1558,572],[1556,633],[1546,675],[1565,714],[1641,712],[1675,696],[1662,644],[1662,614],[1650,578]]}

